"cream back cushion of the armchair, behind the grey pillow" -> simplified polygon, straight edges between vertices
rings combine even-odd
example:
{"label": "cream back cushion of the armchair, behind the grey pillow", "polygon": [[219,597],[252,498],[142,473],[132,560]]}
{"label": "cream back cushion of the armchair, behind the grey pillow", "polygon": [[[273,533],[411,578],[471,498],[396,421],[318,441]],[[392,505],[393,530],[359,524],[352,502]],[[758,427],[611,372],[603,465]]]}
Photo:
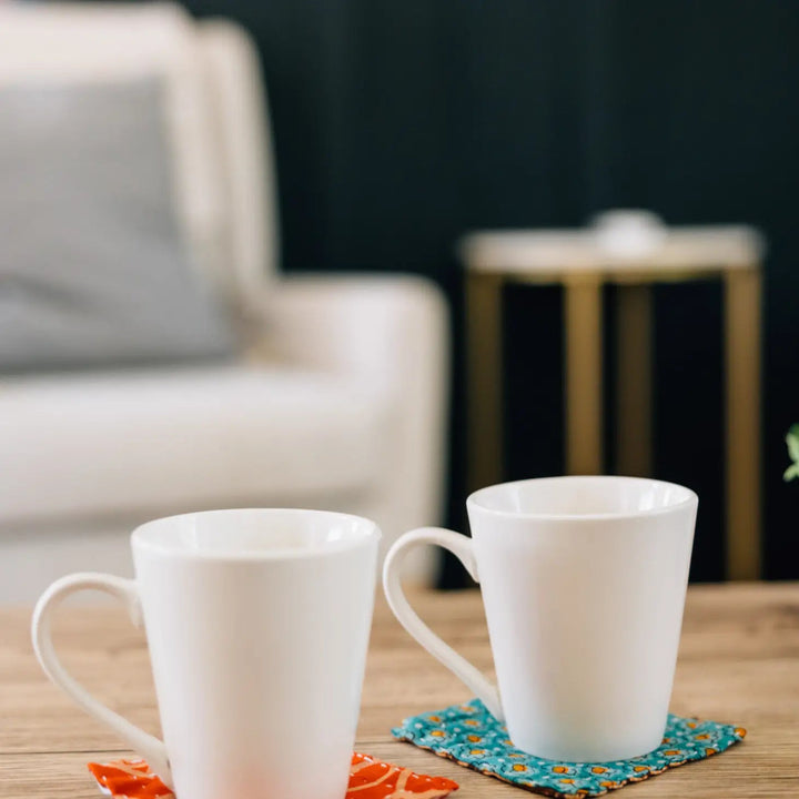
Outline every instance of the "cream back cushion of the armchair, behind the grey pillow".
{"label": "cream back cushion of the armchair, behind the grey pillow", "polygon": [[0,3],[0,84],[165,87],[176,213],[192,262],[219,273],[221,176],[204,69],[191,17],[171,3]]}

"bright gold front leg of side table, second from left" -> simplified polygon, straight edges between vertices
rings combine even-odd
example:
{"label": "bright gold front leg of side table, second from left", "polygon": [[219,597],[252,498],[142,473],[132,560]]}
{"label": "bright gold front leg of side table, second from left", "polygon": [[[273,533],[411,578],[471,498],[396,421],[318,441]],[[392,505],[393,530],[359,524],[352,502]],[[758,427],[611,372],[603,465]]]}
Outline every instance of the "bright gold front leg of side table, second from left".
{"label": "bright gold front leg of side table, second from left", "polygon": [[603,471],[601,282],[576,277],[565,286],[566,469]]}

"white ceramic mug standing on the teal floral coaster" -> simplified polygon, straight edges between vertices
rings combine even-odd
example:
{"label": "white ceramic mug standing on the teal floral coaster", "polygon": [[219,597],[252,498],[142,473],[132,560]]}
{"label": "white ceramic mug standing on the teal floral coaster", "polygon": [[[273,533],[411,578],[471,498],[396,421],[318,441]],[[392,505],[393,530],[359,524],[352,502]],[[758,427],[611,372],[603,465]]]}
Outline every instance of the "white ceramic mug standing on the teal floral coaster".
{"label": "white ceramic mug standing on the teal floral coaster", "polygon": [[[668,715],[697,496],[633,477],[552,477],[467,499],[472,538],[437,528],[392,547],[383,581],[405,629],[553,760],[619,760],[660,745]],[[481,584],[498,691],[418,618],[405,553],[437,544]]]}

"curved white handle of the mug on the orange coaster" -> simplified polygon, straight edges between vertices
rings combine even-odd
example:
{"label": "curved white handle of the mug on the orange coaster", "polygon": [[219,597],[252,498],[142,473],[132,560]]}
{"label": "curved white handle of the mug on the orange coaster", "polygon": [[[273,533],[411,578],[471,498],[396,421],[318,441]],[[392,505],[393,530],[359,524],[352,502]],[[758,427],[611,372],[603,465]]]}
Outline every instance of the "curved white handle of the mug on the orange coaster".
{"label": "curved white handle of the mug on the orange coaster", "polygon": [[117,732],[136,754],[148,761],[150,768],[159,776],[161,781],[168,788],[172,788],[172,772],[163,741],[132,725],[128,719],[122,718],[122,716],[94,699],[85,688],[68,674],[58,655],[55,655],[50,630],[53,611],[70,594],[91,588],[104,591],[119,599],[128,609],[131,621],[136,627],[141,627],[141,601],[133,580],[92,572],[69,575],[55,580],[41,595],[36,610],[33,610],[31,635],[37,658],[39,658],[44,674],[61,690],[83,710]]}

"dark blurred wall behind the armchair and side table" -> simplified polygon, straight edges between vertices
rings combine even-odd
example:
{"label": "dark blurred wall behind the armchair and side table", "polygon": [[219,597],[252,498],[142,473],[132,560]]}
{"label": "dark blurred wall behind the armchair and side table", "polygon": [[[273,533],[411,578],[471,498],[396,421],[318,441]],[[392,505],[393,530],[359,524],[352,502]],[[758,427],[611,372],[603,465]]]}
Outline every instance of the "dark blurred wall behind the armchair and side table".
{"label": "dark blurred wall behind the armchair and side table", "polygon": [[[757,227],[767,242],[762,574],[799,577],[799,485],[782,482],[785,434],[799,421],[799,6],[203,0],[186,9],[224,16],[255,43],[269,91],[280,271],[414,273],[446,299],[446,457],[429,478],[442,493],[408,523],[465,529],[464,234],[581,226],[614,208],[648,209],[670,225]],[[4,119],[0,110],[0,128]],[[11,205],[7,196],[0,208]],[[505,290],[507,479],[565,471],[560,291]],[[722,579],[720,283],[657,286],[655,311],[654,476],[699,494],[691,576]],[[606,355],[613,370],[609,347]],[[8,380],[19,371],[9,367]],[[607,393],[611,408],[609,383]],[[610,462],[613,425],[610,415]],[[438,578],[464,579],[448,563]]]}

